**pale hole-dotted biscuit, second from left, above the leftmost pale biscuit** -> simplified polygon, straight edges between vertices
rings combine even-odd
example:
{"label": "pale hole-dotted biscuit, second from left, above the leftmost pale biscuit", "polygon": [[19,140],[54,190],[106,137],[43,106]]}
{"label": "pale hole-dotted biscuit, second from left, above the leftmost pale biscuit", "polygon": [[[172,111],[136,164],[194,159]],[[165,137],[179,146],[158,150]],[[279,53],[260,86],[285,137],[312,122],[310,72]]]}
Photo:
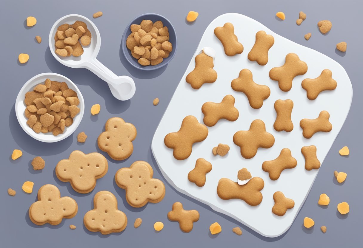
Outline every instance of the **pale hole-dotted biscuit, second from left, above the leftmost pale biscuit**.
{"label": "pale hole-dotted biscuit, second from left, above the leftmost pale biscuit", "polygon": [[75,150],[68,159],[58,162],[56,175],[62,182],[70,182],[78,193],[86,194],[94,189],[96,180],[106,175],[107,170],[107,159],[102,154]]}

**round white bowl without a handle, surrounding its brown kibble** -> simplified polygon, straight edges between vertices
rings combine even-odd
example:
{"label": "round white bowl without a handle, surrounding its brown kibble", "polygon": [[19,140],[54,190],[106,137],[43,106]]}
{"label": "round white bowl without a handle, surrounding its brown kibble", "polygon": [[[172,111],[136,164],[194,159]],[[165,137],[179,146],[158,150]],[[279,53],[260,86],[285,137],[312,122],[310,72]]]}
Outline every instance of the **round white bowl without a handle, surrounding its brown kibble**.
{"label": "round white bowl without a handle, surrounding its brown kibble", "polygon": [[[52,81],[66,82],[70,89],[76,91],[79,99],[79,105],[77,107],[81,109],[81,111],[73,118],[73,124],[70,125],[69,127],[66,127],[64,129],[64,132],[57,136],[54,136],[52,132],[48,133],[34,132],[34,130],[30,128],[28,124],[26,124],[26,121],[28,119],[24,115],[24,111],[26,108],[26,105],[24,103],[25,93],[33,90],[33,88],[37,84],[44,83],[45,79],[47,78],[49,78]],[[81,91],[79,91],[76,84],[74,84],[69,78],[66,78],[57,73],[41,73],[30,78],[28,82],[26,82],[24,86],[21,88],[15,102],[15,113],[20,126],[24,129],[24,131],[28,135],[42,142],[57,142],[60,140],[64,140],[66,137],[70,136],[74,131],[76,131],[79,123],[81,123],[84,111],[85,111],[85,102],[83,100]]]}

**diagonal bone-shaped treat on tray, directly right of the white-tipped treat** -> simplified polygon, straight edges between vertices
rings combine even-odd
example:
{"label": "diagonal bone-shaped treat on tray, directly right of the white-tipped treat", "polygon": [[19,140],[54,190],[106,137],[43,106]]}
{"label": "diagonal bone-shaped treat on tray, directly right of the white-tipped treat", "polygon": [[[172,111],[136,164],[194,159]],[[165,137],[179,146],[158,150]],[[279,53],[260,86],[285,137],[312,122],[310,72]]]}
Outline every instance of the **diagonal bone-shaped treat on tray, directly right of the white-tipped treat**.
{"label": "diagonal bone-shaped treat on tray, directly right of the white-tipped treat", "polygon": [[243,92],[252,108],[261,108],[264,100],[270,96],[270,88],[253,82],[252,72],[248,69],[240,71],[238,78],[233,79],[231,87],[235,91]]}

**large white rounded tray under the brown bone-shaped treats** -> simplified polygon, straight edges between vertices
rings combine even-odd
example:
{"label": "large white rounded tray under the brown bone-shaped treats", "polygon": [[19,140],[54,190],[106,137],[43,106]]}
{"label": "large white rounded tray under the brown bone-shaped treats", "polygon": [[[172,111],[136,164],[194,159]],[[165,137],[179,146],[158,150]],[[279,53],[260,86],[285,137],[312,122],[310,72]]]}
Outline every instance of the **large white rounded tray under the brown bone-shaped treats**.
{"label": "large white rounded tray under the brown bone-shaped treats", "polygon": [[[234,25],[234,33],[238,41],[244,46],[242,54],[228,57],[224,54],[221,42],[214,35],[213,30],[217,26],[223,26],[225,22]],[[255,42],[258,31],[264,30],[271,34],[275,43],[269,50],[267,65],[260,66],[256,62],[247,59],[247,55]],[[203,47],[212,47],[216,51],[215,66],[218,78],[214,83],[206,83],[194,90],[185,82],[186,75],[195,67],[194,58]],[[269,78],[272,67],[282,66],[288,53],[296,53],[308,66],[305,75],[297,76],[293,80],[293,87],[289,92],[283,92],[278,83]],[[270,87],[271,95],[264,101],[260,109],[250,107],[246,96],[241,92],[233,91],[231,81],[238,77],[240,70],[247,68],[252,71],[253,80],[258,84]],[[337,81],[337,88],[333,91],[324,91],[317,99],[311,101],[306,97],[306,91],[301,87],[301,81],[305,78],[316,78],[323,69],[333,72],[333,78]],[[164,144],[164,137],[170,132],[179,130],[181,121],[187,115],[195,116],[203,123],[201,106],[205,102],[221,102],[225,95],[231,94],[236,99],[235,107],[240,115],[234,122],[220,120],[214,127],[208,127],[209,134],[203,142],[193,145],[193,151],[189,158],[178,161],[173,157],[173,150]],[[273,123],[276,119],[274,102],[277,99],[291,99],[294,102],[291,119],[294,124],[293,131],[276,132]],[[302,146],[317,146],[317,157],[321,161],[329,152],[331,145],[337,137],[347,117],[352,101],[352,85],[344,68],[327,57],[310,48],[296,44],[284,37],[275,34],[261,23],[236,13],[228,13],[217,17],[209,24],[203,37],[191,58],[187,70],[181,78],[178,87],[166,109],[152,140],[152,152],[166,180],[178,191],[200,202],[209,205],[213,210],[221,212],[266,237],[276,237],[286,232],[293,223],[303,205],[310,188],[314,183],[319,170],[305,170],[305,160],[301,154]],[[311,139],[302,136],[299,122],[303,118],[315,119],[319,112],[326,110],[330,113],[329,121],[333,129],[329,133],[316,133]],[[266,124],[266,131],[275,137],[275,144],[270,149],[259,148],[256,156],[245,159],[240,154],[240,147],[233,143],[233,135],[239,130],[248,130],[255,119],[261,119]],[[213,156],[212,148],[219,143],[228,144],[231,147],[229,153],[224,156]],[[281,149],[289,148],[292,156],[298,164],[293,169],[282,171],[276,181],[269,178],[267,172],[261,168],[262,162],[278,157]],[[203,187],[197,187],[188,181],[188,173],[195,166],[198,158],[205,158],[212,163],[212,171],[207,174],[207,181]],[[237,171],[247,168],[252,177],[261,177],[265,181],[265,187],[261,190],[263,200],[258,206],[249,206],[240,199],[222,200],[217,195],[218,181],[222,177],[237,181]],[[274,205],[273,194],[282,191],[286,197],[295,201],[295,207],[287,210],[284,216],[272,213]]]}

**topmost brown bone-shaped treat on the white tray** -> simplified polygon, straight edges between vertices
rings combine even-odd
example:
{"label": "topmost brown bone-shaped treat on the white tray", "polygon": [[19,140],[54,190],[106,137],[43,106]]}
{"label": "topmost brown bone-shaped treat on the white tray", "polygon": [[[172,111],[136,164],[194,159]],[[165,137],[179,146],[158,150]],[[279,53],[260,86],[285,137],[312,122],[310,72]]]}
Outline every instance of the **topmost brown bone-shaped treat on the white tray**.
{"label": "topmost brown bone-shaped treat on the white tray", "polygon": [[227,22],[223,27],[215,28],[214,34],[221,41],[224,53],[227,56],[233,56],[243,52],[243,45],[238,42],[238,38],[234,34],[234,26],[232,23]]}

